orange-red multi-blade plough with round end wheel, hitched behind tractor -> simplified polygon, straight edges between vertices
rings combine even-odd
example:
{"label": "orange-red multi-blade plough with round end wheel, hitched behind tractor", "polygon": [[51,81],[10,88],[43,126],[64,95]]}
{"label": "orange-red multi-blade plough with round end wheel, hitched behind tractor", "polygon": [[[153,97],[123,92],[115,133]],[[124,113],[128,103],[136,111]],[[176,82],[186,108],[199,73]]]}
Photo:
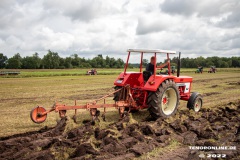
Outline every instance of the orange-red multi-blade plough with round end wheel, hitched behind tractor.
{"label": "orange-red multi-blade plough with round end wheel, hitched behind tractor", "polygon": [[[120,97],[122,97],[122,100],[119,101],[115,101],[115,103],[113,104],[106,104],[105,99],[111,95],[114,95],[116,93],[118,93],[121,95]],[[124,98],[124,99],[123,99]],[[97,104],[97,102],[103,100],[103,104]],[[53,104],[53,106],[51,107],[51,109],[46,110],[45,108],[41,107],[41,106],[37,106],[34,109],[32,109],[31,113],[30,113],[30,117],[31,120],[35,123],[42,123],[46,120],[47,118],[47,114],[55,111],[59,113],[59,117],[60,118],[64,118],[66,116],[66,112],[67,110],[75,110],[75,114],[72,117],[73,120],[76,122],[76,115],[77,115],[77,109],[86,109],[89,110],[90,115],[92,117],[92,121],[94,122],[95,120],[99,120],[99,116],[100,116],[100,111],[98,110],[99,108],[103,108],[103,114],[102,114],[102,118],[105,121],[105,113],[106,113],[106,108],[116,108],[119,110],[119,115],[120,118],[124,118],[126,116],[126,107],[128,107],[128,112],[131,111],[131,107],[135,108],[136,104],[135,101],[131,95],[131,91],[130,91],[130,85],[126,85],[120,89],[115,90],[114,92],[111,92],[99,99],[96,99],[90,103],[87,103],[85,105],[77,105],[77,100],[75,100],[75,105],[73,106],[67,106],[64,104],[59,104],[57,102],[55,102]]]}

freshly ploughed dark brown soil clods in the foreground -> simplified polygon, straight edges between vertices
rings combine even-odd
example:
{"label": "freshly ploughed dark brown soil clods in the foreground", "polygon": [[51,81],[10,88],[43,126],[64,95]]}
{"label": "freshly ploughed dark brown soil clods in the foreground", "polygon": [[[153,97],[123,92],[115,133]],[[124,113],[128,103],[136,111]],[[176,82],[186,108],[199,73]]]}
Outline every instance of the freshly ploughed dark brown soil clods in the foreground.
{"label": "freshly ploughed dark brown soil clods in the foreground", "polygon": [[[0,159],[123,160],[141,158],[156,148],[159,152],[150,159],[200,159],[202,152],[239,159],[239,115],[240,101],[215,110],[203,108],[198,114],[180,110],[170,119],[156,121],[131,123],[130,116],[105,129],[85,123],[66,131],[71,120],[63,118],[54,128],[0,138]],[[236,146],[237,150],[198,151],[189,146]]]}

